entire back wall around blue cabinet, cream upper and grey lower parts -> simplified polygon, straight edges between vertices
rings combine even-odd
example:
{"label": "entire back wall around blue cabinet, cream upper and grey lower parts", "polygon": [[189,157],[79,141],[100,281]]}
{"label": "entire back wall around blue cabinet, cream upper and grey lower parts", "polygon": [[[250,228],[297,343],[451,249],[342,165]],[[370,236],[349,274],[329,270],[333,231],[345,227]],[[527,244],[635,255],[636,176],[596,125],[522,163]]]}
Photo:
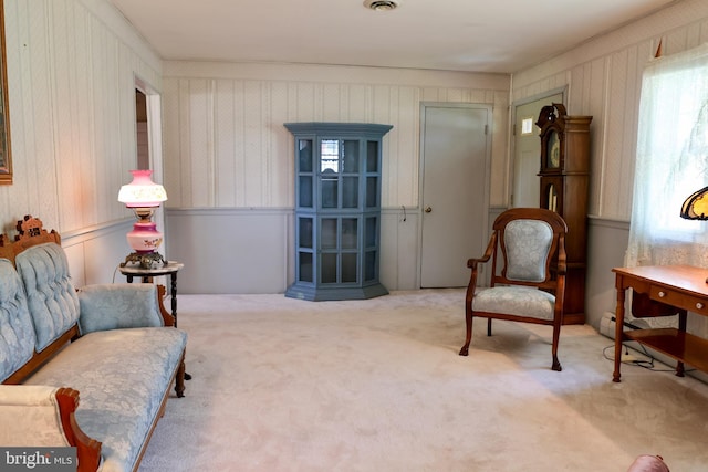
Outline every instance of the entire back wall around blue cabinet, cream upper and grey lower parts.
{"label": "entire back wall around blue cabinet, cream upper and grey lower parts", "polygon": [[180,291],[272,293],[292,283],[294,151],[284,123],[393,125],[382,165],[381,280],[389,290],[419,287],[421,102],[493,106],[490,201],[507,202],[508,76],[195,62],[167,62],[164,72],[167,250],[195,261]]}

